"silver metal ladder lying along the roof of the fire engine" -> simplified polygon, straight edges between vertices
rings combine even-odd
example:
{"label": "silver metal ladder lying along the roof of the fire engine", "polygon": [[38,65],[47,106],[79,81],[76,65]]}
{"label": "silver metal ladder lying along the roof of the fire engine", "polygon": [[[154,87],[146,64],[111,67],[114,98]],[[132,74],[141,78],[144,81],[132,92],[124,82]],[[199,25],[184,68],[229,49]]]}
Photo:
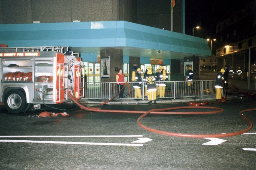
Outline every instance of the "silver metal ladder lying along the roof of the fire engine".
{"label": "silver metal ladder lying along the roof of the fire engine", "polygon": [[0,50],[4,52],[41,52],[41,51],[56,51],[59,53],[64,53],[69,51],[71,47],[61,47],[61,46],[42,46],[42,47],[3,47]]}

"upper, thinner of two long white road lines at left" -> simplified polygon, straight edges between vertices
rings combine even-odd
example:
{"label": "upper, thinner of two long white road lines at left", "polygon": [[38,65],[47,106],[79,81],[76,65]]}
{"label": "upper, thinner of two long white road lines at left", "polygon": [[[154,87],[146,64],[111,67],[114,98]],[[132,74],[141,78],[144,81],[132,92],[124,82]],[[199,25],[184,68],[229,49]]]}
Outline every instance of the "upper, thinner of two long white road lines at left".
{"label": "upper, thinner of two long white road lines at left", "polygon": [[143,135],[82,135],[82,136],[0,136],[6,137],[143,137]]}

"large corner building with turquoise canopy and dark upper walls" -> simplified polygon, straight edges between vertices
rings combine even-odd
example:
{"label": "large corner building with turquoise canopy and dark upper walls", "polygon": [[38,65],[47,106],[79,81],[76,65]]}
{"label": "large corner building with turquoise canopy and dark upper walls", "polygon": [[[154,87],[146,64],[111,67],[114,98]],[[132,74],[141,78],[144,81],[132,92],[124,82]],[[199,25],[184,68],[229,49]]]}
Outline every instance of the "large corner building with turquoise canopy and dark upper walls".
{"label": "large corner building with turquoise canopy and dark upper walls", "polygon": [[184,34],[184,4],[176,1],[172,13],[171,0],[0,0],[0,44],[70,46],[86,62],[87,81],[116,81],[118,68],[130,81],[133,70],[149,65],[164,65],[172,79],[188,60],[196,79],[199,59],[211,50]]}

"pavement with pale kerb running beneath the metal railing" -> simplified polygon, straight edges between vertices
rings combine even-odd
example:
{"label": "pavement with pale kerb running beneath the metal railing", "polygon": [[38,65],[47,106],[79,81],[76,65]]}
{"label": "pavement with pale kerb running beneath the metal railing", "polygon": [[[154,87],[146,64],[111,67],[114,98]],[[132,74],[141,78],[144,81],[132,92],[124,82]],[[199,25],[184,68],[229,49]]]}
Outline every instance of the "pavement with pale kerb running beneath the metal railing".
{"label": "pavement with pale kerb running beneath the metal railing", "polygon": [[[215,80],[215,77],[209,77],[209,76],[202,76],[199,77],[199,80]],[[235,85],[238,89],[243,90],[245,92],[250,92],[250,93],[256,93],[256,83],[255,80],[250,82],[250,86],[248,86],[248,81],[246,80],[241,80],[241,79],[228,79],[229,86]],[[225,95],[225,94],[224,94]],[[228,99],[235,98],[237,96],[234,95],[228,95]],[[106,102],[108,100],[87,100],[87,99],[81,99],[80,100],[82,103],[86,103],[87,105],[99,105],[102,104],[103,102]],[[163,99],[157,99],[156,103],[180,103],[180,102],[205,102],[205,101],[214,101],[215,102],[215,95],[209,95],[209,96],[198,96],[198,97],[183,97],[183,98],[163,98]],[[113,99],[109,101],[107,104],[111,105],[124,105],[124,104],[147,104],[148,100],[136,100],[136,99]],[[154,105],[154,104],[152,104]]]}

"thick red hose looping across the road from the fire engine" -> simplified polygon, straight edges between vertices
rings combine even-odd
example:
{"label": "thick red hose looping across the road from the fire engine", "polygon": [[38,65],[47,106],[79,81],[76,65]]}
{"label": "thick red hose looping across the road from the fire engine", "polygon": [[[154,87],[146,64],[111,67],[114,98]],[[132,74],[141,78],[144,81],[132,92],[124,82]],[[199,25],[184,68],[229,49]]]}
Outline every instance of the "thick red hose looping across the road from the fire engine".
{"label": "thick red hose looping across the road from the fire engine", "polygon": [[[169,136],[176,136],[176,137],[193,137],[193,138],[203,138],[203,137],[230,137],[230,136],[236,136],[236,135],[241,135],[243,133],[246,133],[248,131],[250,131],[252,129],[252,122],[247,119],[243,113],[244,112],[248,112],[248,111],[254,111],[256,110],[256,108],[254,109],[247,109],[247,110],[243,110],[241,111],[239,114],[240,116],[246,120],[249,124],[249,127],[241,130],[241,131],[237,131],[237,132],[232,132],[232,133],[225,133],[225,134],[185,134],[185,133],[174,133],[174,132],[167,132],[167,131],[163,131],[163,130],[157,130],[157,129],[152,129],[149,128],[145,125],[142,125],[140,123],[141,119],[143,117],[145,117],[148,114],[167,114],[167,115],[198,115],[198,114],[215,114],[215,113],[220,113],[223,111],[222,108],[220,107],[207,107],[207,106],[185,106],[185,107],[171,107],[171,108],[163,108],[163,109],[151,109],[149,111],[131,111],[131,110],[100,110],[100,108],[90,108],[90,107],[85,107],[83,106],[81,103],[79,103],[79,101],[74,97],[74,90],[71,87],[72,93],[68,92],[68,97],[73,100],[81,109],[85,109],[88,111],[97,111],[97,112],[110,112],[110,113],[138,113],[138,114],[142,114],[138,120],[137,120],[137,124],[148,131],[154,132],[154,133],[159,133],[159,134],[163,134],[163,135],[169,135]],[[207,112],[166,112],[169,110],[177,110],[177,109],[190,109],[190,108],[207,108],[207,109],[215,109],[215,111],[207,111]],[[165,111],[165,112],[164,112]]]}

